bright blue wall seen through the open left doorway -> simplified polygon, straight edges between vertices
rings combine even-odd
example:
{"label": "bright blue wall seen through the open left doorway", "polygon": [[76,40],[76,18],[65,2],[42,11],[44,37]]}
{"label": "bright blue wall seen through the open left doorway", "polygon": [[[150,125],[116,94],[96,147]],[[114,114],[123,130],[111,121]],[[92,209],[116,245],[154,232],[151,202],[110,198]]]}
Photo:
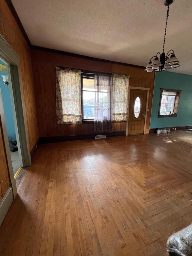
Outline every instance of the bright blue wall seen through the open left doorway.
{"label": "bright blue wall seen through the open left doorway", "polygon": [[[4,63],[0,60],[0,64]],[[0,71],[0,88],[1,88],[1,95],[3,100],[3,109],[5,115],[5,122],[7,126],[7,134],[8,136],[12,137],[12,140],[16,140],[15,135],[15,126],[13,121],[13,111],[11,106],[11,98],[10,98],[10,89],[7,87],[6,84],[3,82],[3,77],[1,75],[7,75],[6,71]]]}

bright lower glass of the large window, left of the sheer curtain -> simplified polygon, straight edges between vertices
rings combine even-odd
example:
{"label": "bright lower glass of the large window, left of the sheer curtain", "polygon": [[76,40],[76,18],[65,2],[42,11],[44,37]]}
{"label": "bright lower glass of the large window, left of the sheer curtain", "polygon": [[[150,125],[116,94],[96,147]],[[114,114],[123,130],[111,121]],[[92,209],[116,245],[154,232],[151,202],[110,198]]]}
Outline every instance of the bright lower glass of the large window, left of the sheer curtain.
{"label": "bright lower glass of the large window, left of the sheer curtain", "polygon": [[95,92],[83,91],[83,119],[94,119]]}

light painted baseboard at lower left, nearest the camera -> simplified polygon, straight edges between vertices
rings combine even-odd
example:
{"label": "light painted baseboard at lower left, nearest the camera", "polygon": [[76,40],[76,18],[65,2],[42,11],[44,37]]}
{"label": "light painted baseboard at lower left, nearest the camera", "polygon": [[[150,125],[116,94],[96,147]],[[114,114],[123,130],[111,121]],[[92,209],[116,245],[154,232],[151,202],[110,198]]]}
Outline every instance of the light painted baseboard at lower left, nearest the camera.
{"label": "light painted baseboard at lower left, nearest the camera", "polygon": [[0,202],[0,226],[12,202],[13,202],[13,189],[10,187]]}

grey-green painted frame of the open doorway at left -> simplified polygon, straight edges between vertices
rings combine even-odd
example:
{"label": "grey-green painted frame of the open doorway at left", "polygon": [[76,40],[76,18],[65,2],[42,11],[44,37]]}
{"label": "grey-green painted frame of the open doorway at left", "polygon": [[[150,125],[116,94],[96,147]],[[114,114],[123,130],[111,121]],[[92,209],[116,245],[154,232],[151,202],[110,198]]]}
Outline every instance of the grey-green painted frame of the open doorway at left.
{"label": "grey-green painted frame of the open doorway at left", "polygon": [[[19,62],[20,57],[15,53],[10,44],[0,35],[0,56],[3,62],[7,64],[7,75],[9,80],[10,87],[10,97],[11,104],[13,109],[13,119],[16,122],[15,132],[18,140],[18,149],[21,152],[21,164],[22,167],[31,165],[31,154],[29,150],[29,139],[27,133],[26,125],[26,113],[25,113],[25,104],[22,90],[22,79],[21,74],[19,73]],[[1,100],[1,98],[0,98]],[[1,113],[1,123],[2,131],[4,138],[4,146],[7,156],[7,164],[10,175],[10,183],[13,188],[13,197],[15,198],[16,191],[16,182],[13,174],[12,161],[10,156],[9,142],[7,137],[7,128],[4,119],[4,110],[2,105],[2,100],[0,102],[0,113]]]}

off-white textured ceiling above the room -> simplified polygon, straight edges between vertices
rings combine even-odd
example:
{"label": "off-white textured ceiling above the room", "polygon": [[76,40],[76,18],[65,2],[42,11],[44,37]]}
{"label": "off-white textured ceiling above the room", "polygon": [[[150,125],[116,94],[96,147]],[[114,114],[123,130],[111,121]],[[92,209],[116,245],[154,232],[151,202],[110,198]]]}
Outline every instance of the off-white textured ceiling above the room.
{"label": "off-white textured ceiling above the room", "polygon": [[[162,52],[164,0],[12,0],[33,45],[146,66]],[[192,75],[192,1],[170,6],[165,52]]]}

